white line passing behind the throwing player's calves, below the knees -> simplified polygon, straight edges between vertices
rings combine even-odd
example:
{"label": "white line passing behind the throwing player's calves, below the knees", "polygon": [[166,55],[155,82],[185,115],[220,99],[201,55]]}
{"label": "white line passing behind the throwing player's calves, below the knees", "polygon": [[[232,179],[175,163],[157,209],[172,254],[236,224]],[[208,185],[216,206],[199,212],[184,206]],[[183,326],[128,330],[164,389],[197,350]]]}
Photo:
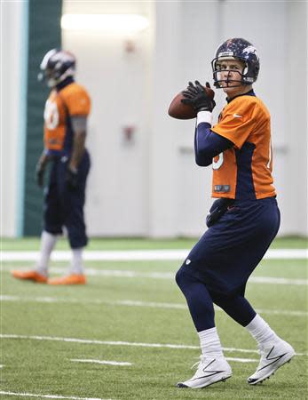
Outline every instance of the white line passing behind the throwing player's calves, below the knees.
{"label": "white line passing behind the throwing player's calves, below the knees", "polygon": [[[12,302],[34,302],[34,303],[66,303],[66,304],[97,304],[109,306],[128,306],[128,307],[148,307],[148,308],[167,308],[167,309],[183,309],[187,310],[186,304],[180,303],[158,303],[154,301],[140,301],[140,300],[99,300],[99,299],[67,299],[60,297],[29,297],[29,296],[12,296],[0,295],[0,301]],[[215,307],[216,311],[223,311],[219,307]],[[307,311],[298,310],[280,310],[280,309],[256,309],[259,314],[273,314],[278,316],[308,316]]]}

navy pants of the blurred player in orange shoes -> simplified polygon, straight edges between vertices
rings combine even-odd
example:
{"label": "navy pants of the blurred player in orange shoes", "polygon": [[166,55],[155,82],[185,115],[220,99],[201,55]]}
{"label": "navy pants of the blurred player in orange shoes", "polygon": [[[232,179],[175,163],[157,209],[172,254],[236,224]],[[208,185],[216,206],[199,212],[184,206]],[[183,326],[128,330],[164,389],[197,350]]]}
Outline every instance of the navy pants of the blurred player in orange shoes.
{"label": "navy pants of the blurred player in orange shoes", "polygon": [[52,235],[61,235],[63,227],[67,228],[69,244],[72,249],[77,249],[88,243],[83,206],[86,180],[91,165],[89,153],[84,152],[79,164],[78,184],[74,190],[67,188],[67,163],[66,156],[51,161],[49,183],[44,196],[43,229]]}

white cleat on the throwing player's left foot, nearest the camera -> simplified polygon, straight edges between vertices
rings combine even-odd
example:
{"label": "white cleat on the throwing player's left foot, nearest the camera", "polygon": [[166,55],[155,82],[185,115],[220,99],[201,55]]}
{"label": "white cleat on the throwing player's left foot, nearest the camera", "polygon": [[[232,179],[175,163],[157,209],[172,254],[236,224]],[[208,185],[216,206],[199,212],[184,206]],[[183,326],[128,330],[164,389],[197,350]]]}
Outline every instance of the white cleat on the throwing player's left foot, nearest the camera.
{"label": "white cleat on the throwing player's left foot, nearest the camera", "polygon": [[199,365],[193,378],[178,382],[178,388],[205,388],[221,380],[225,381],[232,376],[231,366],[226,362],[224,356],[216,358],[200,356],[200,362],[196,364]]}

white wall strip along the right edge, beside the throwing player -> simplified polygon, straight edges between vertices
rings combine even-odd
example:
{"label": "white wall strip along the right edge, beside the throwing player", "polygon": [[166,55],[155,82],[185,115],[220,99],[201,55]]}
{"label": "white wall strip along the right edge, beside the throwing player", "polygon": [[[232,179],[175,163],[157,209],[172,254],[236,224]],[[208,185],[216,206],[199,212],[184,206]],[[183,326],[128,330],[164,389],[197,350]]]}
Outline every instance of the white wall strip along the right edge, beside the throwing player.
{"label": "white wall strip along the right edge, beside the throwing player", "polygon": [[307,11],[307,2],[288,3],[284,43],[286,73],[281,84],[287,148],[284,172],[280,172],[281,228],[282,232],[302,235],[308,234]]}

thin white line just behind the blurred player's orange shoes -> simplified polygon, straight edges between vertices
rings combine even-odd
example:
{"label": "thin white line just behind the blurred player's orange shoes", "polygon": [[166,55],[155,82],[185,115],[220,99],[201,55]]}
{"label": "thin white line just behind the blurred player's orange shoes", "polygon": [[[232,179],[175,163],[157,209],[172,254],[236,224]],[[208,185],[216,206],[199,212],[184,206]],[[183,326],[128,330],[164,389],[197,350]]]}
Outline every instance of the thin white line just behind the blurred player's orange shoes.
{"label": "thin white line just behind the blurred player's orange shoes", "polygon": [[[26,267],[5,267],[4,270],[21,269],[26,270]],[[51,268],[52,273],[63,274],[64,268]],[[143,279],[172,279],[174,280],[175,272],[137,272],[125,269],[95,269],[86,268],[87,276],[112,276],[125,278],[143,278]],[[290,279],[274,276],[251,276],[249,284],[293,284],[293,285],[308,285],[308,279]]]}

